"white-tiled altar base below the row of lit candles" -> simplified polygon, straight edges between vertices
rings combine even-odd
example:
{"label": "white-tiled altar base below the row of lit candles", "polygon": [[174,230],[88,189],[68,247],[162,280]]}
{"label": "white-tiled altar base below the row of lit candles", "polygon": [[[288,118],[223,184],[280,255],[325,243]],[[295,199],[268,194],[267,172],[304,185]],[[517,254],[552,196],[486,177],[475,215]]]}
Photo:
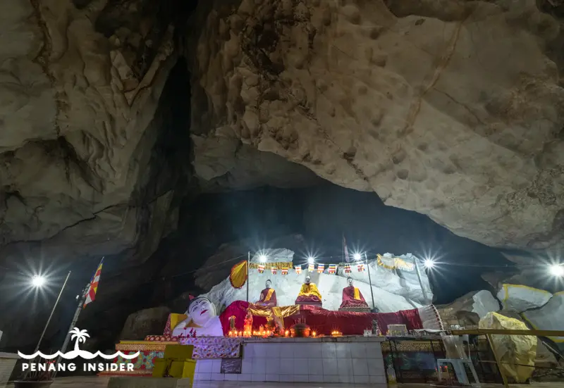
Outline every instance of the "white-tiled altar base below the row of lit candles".
{"label": "white-tiled altar base below the row of lit candles", "polygon": [[245,338],[237,359],[200,359],[195,381],[386,385],[384,337]]}

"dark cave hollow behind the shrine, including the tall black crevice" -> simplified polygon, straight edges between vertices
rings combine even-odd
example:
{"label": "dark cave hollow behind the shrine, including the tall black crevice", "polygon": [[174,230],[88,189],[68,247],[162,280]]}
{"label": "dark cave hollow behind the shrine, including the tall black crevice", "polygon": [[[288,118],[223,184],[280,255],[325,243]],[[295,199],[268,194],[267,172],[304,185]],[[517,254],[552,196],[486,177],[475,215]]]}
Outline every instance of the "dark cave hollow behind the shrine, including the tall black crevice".
{"label": "dark cave hollow behind the shrine, including the tall black crevice", "polygon": [[[185,301],[178,297],[200,291],[195,286],[195,271],[222,244],[245,239],[255,242],[250,250],[258,250],[269,248],[268,242],[277,237],[301,234],[305,249],[317,256],[340,257],[345,236],[349,249],[372,255],[411,252],[422,257],[435,256],[445,263],[444,271],[431,277],[435,303],[448,303],[472,290],[489,289],[491,286],[480,277],[491,270],[487,265],[508,266],[510,270],[512,264],[497,249],[455,236],[425,215],[385,206],[374,193],[357,192],[329,182],[295,189],[257,187],[202,192],[187,151],[190,75],[186,69],[181,59],[169,76],[154,119],[158,134],[151,168],[131,199],[132,205],[148,208],[162,192],[174,189],[173,207],[179,208],[178,228],[162,239],[157,251],[142,263],[131,260],[134,251],[104,259],[97,300],[85,308],[79,320],[80,327],[93,338],[91,346],[112,349],[130,313],[154,306],[183,309]],[[141,225],[147,228],[146,222]],[[57,268],[51,277],[54,284],[62,283],[68,270],[74,274],[42,346],[56,349],[75,311],[74,296],[90,280],[99,258],[72,263],[43,260],[41,265]],[[18,273],[3,276],[4,284],[9,280],[11,287],[20,282]],[[0,318],[1,327],[18,322],[22,335],[9,344],[1,344],[3,349],[33,346],[32,339],[38,337],[41,327],[36,323],[47,319],[59,291],[56,287],[49,294],[27,296],[13,292],[13,288],[4,289],[0,303],[14,313],[9,319]],[[22,297],[33,303],[20,303]]]}

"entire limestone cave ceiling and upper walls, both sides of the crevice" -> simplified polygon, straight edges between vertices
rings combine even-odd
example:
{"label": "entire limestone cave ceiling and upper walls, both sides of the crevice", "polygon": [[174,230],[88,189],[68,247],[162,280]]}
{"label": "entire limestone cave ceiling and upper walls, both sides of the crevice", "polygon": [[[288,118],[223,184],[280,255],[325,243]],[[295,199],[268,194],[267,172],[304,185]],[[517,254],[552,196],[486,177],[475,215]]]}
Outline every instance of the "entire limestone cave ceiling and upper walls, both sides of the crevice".
{"label": "entire limestone cave ceiling and upper walls, both sides of the crevice", "polygon": [[561,244],[558,1],[188,3],[8,1],[4,260],[142,261],[179,196],[321,178],[490,246]]}

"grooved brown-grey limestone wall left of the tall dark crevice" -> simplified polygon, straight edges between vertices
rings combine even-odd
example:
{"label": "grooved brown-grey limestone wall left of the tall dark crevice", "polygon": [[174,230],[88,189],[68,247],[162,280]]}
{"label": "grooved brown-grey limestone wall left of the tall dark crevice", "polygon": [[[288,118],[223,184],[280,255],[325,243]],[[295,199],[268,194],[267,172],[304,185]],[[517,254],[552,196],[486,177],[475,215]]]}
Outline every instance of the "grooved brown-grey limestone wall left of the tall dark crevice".
{"label": "grooved brown-grey limestone wall left of the tall dark crevice", "polygon": [[[156,136],[147,130],[176,62],[173,29],[159,9],[143,15],[148,3],[5,4],[2,256],[109,254],[137,241],[142,210],[130,199],[148,167]],[[169,204],[164,196],[154,208],[166,217]]]}

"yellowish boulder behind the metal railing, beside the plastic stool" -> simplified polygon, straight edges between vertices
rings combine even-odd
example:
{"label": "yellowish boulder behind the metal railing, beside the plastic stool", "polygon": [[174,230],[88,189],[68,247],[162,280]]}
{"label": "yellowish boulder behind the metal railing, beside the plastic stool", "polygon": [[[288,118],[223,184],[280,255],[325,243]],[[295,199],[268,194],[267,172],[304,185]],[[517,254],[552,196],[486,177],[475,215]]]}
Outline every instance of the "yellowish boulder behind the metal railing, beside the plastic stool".
{"label": "yellowish boulder behind the metal railing, beside the plastic stool", "polygon": [[[525,323],[498,313],[488,313],[479,322],[480,329],[529,330]],[[492,346],[500,358],[499,368],[517,383],[527,382],[534,371],[537,337],[532,335],[492,334]],[[530,366],[527,366],[530,365]]]}

